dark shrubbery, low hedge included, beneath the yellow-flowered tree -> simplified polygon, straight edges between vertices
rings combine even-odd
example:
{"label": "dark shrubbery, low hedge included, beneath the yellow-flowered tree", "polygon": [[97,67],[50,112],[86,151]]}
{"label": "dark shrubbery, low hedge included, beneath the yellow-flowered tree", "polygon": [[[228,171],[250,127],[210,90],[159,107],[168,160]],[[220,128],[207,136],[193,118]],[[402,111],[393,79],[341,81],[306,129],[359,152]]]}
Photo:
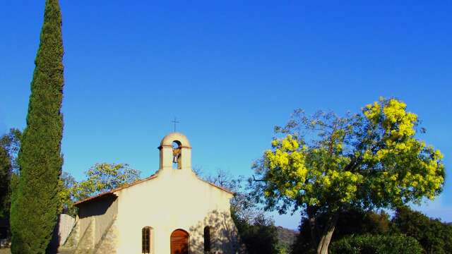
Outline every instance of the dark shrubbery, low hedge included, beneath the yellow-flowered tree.
{"label": "dark shrubbery, low hedge included, beneath the yellow-flowered tree", "polygon": [[[323,216],[319,222],[323,222]],[[316,253],[311,243],[311,231],[307,218],[299,225],[300,234],[292,246],[292,253]],[[406,237],[405,237],[406,236]],[[414,249],[406,248],[397,252],[398,245],[413,243]],[[389,243],[393,241],[394,246]],[[332,237],[330,252],[333,253],[452,253],[452,225],[432,219],[410,207],[399,207],[390,220],[385,212],[352,209],[341,212],[338,218],[338,230]],[[389,247],[388,247],[389,246]],[[395,252],[384,252],[386,248]]]}

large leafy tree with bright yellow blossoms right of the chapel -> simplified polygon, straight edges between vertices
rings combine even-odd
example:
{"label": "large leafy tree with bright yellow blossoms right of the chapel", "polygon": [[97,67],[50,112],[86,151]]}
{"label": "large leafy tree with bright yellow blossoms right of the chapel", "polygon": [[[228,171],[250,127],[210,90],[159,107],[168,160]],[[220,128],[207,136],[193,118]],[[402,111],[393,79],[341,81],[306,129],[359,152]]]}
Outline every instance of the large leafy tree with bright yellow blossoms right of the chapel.
{"label": "large leafy tree with bright yellow blossoms right of the chapel", "polygon": [[381,98],[345,117],[295,111],[254,165],[256,200],[280,213],[301,208],[316,252],[328,253],[340,211],[433,199],[444,184],[443,155],[415,138],[417,116],[405,109]]}

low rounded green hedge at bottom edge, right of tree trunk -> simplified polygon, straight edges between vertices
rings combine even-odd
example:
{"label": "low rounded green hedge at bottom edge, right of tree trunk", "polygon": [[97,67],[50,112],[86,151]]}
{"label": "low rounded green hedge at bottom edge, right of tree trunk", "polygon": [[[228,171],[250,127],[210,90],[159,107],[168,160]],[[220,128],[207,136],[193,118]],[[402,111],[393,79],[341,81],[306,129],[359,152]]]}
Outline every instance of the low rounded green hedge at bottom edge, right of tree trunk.
{"label": "low rounded green hedge at bottom edge, right of tree trunk", "polygon": [[415,238],[403,235],[348,236],[331,243],[331,254],[421,254]]}

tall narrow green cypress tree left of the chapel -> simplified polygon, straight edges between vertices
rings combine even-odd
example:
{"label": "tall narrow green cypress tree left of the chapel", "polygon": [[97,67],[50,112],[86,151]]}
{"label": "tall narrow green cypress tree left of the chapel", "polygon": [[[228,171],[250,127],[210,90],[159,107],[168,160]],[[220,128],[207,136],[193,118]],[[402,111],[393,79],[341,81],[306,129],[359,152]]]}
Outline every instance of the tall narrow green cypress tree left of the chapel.
{"label": "tall narrow green cypress tree left of the chapel", "polygon": [[27,126],[18,155],[19,183],[13,190],[13,254],[45,253],[58,215],[63,116],[63,41],[58,0],[46,0],[40,46],[31,83]]}

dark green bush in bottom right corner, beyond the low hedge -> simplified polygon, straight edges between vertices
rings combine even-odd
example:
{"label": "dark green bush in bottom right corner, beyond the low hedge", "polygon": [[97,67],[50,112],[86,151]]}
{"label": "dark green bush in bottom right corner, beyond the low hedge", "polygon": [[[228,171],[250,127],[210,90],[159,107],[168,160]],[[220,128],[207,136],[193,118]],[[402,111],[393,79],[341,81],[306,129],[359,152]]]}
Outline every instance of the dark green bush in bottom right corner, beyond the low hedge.
{"label": "dark green bush in bottom right corner, beyond the low hedge", "polygon": [[431,219],[409,207],[399,207],[392,222],[396,232],[416,238],[424,253],[451,253],[452,225]]}

